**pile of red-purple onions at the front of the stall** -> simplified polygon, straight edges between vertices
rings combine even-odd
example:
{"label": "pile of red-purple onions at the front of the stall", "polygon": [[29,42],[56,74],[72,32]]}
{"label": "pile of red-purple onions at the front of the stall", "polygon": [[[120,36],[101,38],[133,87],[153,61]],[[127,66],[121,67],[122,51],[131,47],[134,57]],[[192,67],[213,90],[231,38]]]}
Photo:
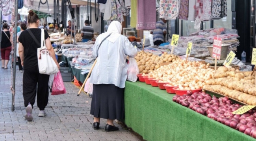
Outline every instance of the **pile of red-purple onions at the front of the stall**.
{"label": "pile of red-purple onions at the front of the stall", "polygon": [[233,104],[228,97],[216,98],[205,92],[192,94],[191,91],[187,91],[183,96],[175,95],[173,101],[256,138],[256,110],[249,110],[243,115],[234,115],[232,112],[243,105]]}

